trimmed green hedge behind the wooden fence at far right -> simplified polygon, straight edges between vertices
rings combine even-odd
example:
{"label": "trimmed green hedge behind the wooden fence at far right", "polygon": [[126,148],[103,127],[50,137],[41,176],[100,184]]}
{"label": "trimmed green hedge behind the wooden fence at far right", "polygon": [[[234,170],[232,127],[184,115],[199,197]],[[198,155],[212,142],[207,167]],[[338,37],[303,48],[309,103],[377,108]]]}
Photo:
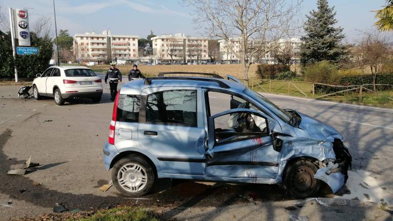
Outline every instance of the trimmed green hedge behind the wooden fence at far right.
{"label": "trimmed green hedge behind the wooden fence at far right", "polygon": [[[366,75],[353,75],[353,76],[342,76],[339,85],[351,86],[351,85],[363,85],[372,84],[373,76],[371,74]],[[390,74],[377,74],[376,84],[389,84],[393,85],[393,73]],[[355,87],[355,86],[354,86]],[[326,85],[315,85],[315,93],[317,94],[330,94],[339,92],[342,90],[350,89],[351,87],[332,87]],[[366,88],[373,90],[373,85],[366,86]],[[393,86],[377,86],[377,90],[393,90]],[[347,93],[354,93],[354,91],[348,91]]]}

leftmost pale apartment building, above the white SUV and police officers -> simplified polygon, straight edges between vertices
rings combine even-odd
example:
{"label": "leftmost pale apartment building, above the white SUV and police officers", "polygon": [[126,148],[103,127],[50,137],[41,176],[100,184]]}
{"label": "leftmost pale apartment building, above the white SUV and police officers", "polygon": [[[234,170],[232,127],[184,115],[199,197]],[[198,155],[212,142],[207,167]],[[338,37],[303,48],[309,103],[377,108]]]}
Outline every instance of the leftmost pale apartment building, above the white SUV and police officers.
{"label": "leftmost pale apartment building, above the white SUV and police officers", "polygon": [[81,63],[102,64],[112,60],[138,60],[137,35],[112,35],[110,31],[102,34],[75,34],[74,53]]}

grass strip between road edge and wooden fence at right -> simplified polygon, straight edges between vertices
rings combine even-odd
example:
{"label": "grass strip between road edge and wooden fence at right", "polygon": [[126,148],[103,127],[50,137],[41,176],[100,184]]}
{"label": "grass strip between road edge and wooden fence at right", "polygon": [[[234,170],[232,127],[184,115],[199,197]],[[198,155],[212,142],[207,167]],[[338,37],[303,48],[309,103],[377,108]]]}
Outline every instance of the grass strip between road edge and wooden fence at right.
{"label": "grass strip between road edge and wooden fence at right", "polygon": [[366,106],[393,108],[393,91],[382,91],[378,93],[363,93],[361,102],[359,102],[359,94],[346,94],[343,96],[325,97],[319,99],[340,102],[340,103],[351,103],[351,104],[366,105]]}

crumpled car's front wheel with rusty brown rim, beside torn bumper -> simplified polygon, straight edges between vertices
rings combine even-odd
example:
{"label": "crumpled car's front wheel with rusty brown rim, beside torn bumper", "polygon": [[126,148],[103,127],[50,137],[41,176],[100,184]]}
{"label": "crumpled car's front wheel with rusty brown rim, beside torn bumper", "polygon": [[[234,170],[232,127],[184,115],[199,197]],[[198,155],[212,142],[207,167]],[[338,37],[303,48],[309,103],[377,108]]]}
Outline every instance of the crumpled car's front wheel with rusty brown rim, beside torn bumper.
{"label": "crumpled car's front wheel with rusty brown rim, beside torn bumper", "polygon": [[310,160],[297,160],[287,166],[284,184],[292,198],[307,198],[319,192],[321,181],[314,178],[318,167]]}

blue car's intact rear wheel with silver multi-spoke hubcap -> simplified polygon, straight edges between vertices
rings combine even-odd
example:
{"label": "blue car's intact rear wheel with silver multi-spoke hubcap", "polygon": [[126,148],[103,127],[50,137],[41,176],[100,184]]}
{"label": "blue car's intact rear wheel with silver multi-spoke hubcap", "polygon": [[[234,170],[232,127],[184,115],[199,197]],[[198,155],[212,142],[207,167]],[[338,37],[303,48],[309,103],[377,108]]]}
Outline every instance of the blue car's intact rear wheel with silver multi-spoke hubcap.
{"label": "blue car's intact rear wheel with silver multi-spoke hubcap", "polygon": [[115,163],[112,181],[121,194],[141,196],[154,185],[155,172],[145,158],[132,154]]}

